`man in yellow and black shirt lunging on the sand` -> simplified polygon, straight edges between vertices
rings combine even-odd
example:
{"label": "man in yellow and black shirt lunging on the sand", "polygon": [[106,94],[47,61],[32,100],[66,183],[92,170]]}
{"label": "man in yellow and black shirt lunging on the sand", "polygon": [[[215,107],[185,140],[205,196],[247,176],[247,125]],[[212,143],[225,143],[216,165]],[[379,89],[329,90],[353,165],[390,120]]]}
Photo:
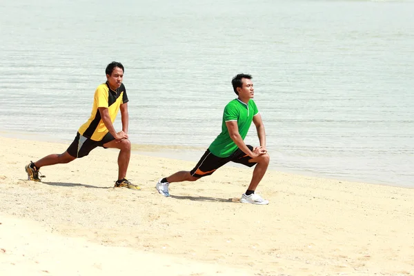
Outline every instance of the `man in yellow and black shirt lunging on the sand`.
{"label": "man in yellow and black shirt lunging on the sand", "polygon": [[[106,83],[102,83],[95,90],[92,114],[83,124],[75,140],[68,150],[62,154],[52,154],[36,162],[30,161],[25,167],[28,179],[41,181],[39,169],[43,166],[65,164],[77,158],[84,157],[91,150],[101,146],[103,148],[118,148],[118,180],[115,187],[140,188],[128,181],[126,171],[130,161],[131,143],[128,139],[128,96],[122,80],[124,79],[124,66],[113,61],[106,66]],[[117,132],[113,122],[121,110],[122,130]]]}

